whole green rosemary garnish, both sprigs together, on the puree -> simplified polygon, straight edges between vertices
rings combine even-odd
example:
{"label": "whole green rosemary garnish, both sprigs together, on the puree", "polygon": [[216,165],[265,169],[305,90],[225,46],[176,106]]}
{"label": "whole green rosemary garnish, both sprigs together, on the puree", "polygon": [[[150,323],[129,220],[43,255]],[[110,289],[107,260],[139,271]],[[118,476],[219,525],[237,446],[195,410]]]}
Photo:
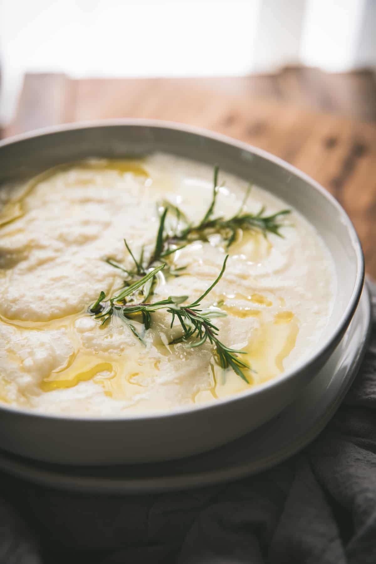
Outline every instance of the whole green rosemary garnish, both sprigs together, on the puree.
{"label": "whole green rosemary garnish, both sprigs together, on the puree", "polygon": [[[111,258],[105,259],[109,265],[125,272],[127,275],[127,279],[124,281],[125,288],[121,289],[116,296],[107,299],[104,292],[101,292],[96,302],[89,308],[89,312],[91,315],[95,315],[95,319],[101,320],[101,324],[106,323],[113,316],[120,317],[130,328],[130,331],[145,345],[143,336],[136,331],[130,318],[137,314],[141,315],[144,330],[146,331],[151,327],[153,312],[165,309],[171,314],[171,328],[175,318],[177,318],[183,329],[182,335],[174,339],[170,343],[171,345],[182,341],[189,341],[187,346],[194,348],[203,345],[209,340],[211,345],[215,346],[219,365],[224,369],[231,367],[238,376],[248,382],[244,374],[244,368],[250,369],[250,367],[237,356],[244,353],[244,351],[233,350],[225,346],[218,338],[218,327],[211,321],[226,314],[223,311],[201,309],[200,307],[202,299],[211,292],[222,277],[228,255],[224,259],[219,276],[196,301],[184,306],[182,303],[187,301],[188,296],[169,296],[161,301],[149,302],[149,298],[153,295],[154,283],[158,272],[164,269],[165,274],[179,276],[187,268],[187,266],[174,268],[169,262],[168,257],[193,241],[209,241],[211,235],[218,234],[222,237],[225,247],[228,249],[236,240],[238,230],[260,232],[265,237],[268,233],[274,233],[282,237],[280,233],[280,228],[283,225],[281,219],[289,214],[290,210],[285,209],[275,214],[267,215],[265,206],[262,206],[256,214],[247,213],[244,211],[244,208],[251,191],[251,185],[247,188],[244,200],[235,215],[229,219],[213,217],[216,197],[220,186],[223,186],[223,184],[218,186],[218,175],[219,167],[216,165],[213,178],[213,196],[200,223],[193,224],[178,206],[171,204],[167,200],[162,200],[158,205],[160,222],[156,242],[149,259],[145,261],[144,248],[142,248],[140,258],[137,260],[126,240],[124,240],[125,246],[135,265],[133,270],[124,268]],[[174,227],[171,227],[169,222],[167,222],[169,214],[175,217]]]}

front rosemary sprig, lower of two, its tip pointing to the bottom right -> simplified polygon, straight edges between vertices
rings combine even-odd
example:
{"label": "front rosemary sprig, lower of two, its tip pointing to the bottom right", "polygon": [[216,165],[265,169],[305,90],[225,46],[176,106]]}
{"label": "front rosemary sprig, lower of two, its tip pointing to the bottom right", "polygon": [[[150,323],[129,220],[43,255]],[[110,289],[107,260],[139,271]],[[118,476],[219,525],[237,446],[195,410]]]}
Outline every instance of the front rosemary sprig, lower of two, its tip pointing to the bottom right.
{"label": "front rosemary sprig, lower of two, its tip pointing to the bottom right", "polygon": [[244,354],[245,351],[238,351],[224,345],[224,343],[218,338],[219,329],[212,321],[214,318],[223,317],[226,314],[223,311],[201,309],[200,307],[202,299],[204,299],[207,294],[213,290],[215,285],[218,284],[219,280],[222,278],[227,259],[228,255],[225,257],[222,270],[214,280],[213,284],[211,284],[199,298],[194,300],[192,303],[189,303],[189,305],[182,305],[183,302],[187,301],[188,296],[169,296],[167,299],[162,299],[161,301],[153,303],[145,303],[145,301],[140,303],[127,303],[125,301],[127,297],[132,296],[132,294],[134,294],[139,288],[143,287],[148,280],[157,274],[158,271],[165,267],[165,265],[161,265],[154,268],[154,270],[149,272],[149,274],[143,276],[143,278],[134,284],[131,284],[128,288],[122,290],[120,294],[108,299],[107,301],[105,300],[104,292],[101,292],[99,298],[90,307],[89,312],[92,315],[95,315],[95,319],[101,319],[102,324],[112,318],[113,315],[120,316],[120,318],[123,319],[130,327],[132,333],[134,333],[135,336],[143,344],[145,344],[143,338],[136,331],[134,325],[131,324],[129,316],[141,314],[144,328],[146,330],[151,327],[153,312],[165,309],[169,314],[171,314],[171,329],[174,325],[175,318],[178,319],[183,329],[182,335],[171,341],[171,345],[193,339],[193,342],[188,345],[188,347],[192,349],[204,345],[206,341],[209,341],[211,345],[214,345],[215,347],[216,358],[220,367],[223,369],[232,368],[238,376],[240,376],[245,382],[248,382],[244,369],[250,369],[250,367],[237,356],[239,354]]}

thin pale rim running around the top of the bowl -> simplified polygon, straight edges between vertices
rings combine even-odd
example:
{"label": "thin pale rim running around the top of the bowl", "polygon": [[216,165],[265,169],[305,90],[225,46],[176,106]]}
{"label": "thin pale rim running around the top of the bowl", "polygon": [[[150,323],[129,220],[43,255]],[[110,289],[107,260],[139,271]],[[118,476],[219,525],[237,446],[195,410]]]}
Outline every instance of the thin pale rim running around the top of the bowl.
{"label": "thin pale rim running around the top of the bowl", "polygon": [[[311,187],[313,187],[316,191],[318,191],[321,196],[324,197],[331,205],[333,205],[337,210],[340,216],[342,217],[342,221],[345,224],[348,234],[350,236],[350,240],[353,246],[353,250],[355,252],[357,258],[357,265],[356,265],[356,276],[355,276],[355,284],[352,290],[350,301],[347,304],[346,309],[344,309],[337,325],[335,325],[334,329],[330,332],[328,338],[326,338],[323,345],[319,346],[315,351],[309,355],[306,359],[301,360],[299,363],[294,364],[293,368],[286,370],[284,373],[267,380],[266,382],[262,382],[261,384],[256,384],[251,387],[249,390],[242,391],[240,394],[234,394],[227,396],[225,398],[221,398],[218,402],[209,402],[203,403],[194,406],[188,407],[175,407],[170,409],[169,411],[158,411],[158,412],[151,412],[151,413],[132,413],[132,415],[103,415],[103,416],[85,416],[85,415],[77,415],[73,414],[64,415],[61,413],[43,413],[42,411],[35,411],[32,408],[20,408],[17,406],[7,406],[6,404],[0,404],[0,412],[5,411],[9,412],[10,414],[14,415],[22,415],[25,417],[42,417],[45,419],[51,420],[61,420],[65,422],[92,422],[92,423],[105,423],[105,422],[122,422],[122,421],[137,421],[137,420],[159,420],[161,418],[166,417],[176,417],[176,416],[185,416],[189,415],[189,413],[197,413],[198,411],[205,411],[207,409],[220,409],[224,405],[231,404],[233,402],[240,402],[245,401],[250,396],[257,396],[262,394],[264,390],[267,390],[272,387],[277,387],[281,384],[281,382],[288,380],[290,378],[296,377],[299,372],[302,372],[304,369],[308,369],[311,365],[315,364],[317,360],[319,360],[322,356],[325,356],[330,349],[334,349],[335,345],[337,345],[339,338],[342,336],[343,332],[345,331],[346,327],[350,323],[352,316],[356,310],[358,305],[361,291],[364,285],[364,276],[365,276],[365,264],[364,264],[364,254],[362,251],[361,243],[359,240],[359,236],[353,226],[353,223],[348,216],[347,212],[343,209],[342,205],[335,199],[334,196],[331,195],[319,182],[311,178],[308,174],[303,173],[303,171],[299,170],[295,166],[289,164],[289,162],[284,161],[282,158],[265,151],[264,149],[260,149],[259,147],[255,147],[249,143],[240,141],[238,139],[232,138],[229,135],[224,135],[222,133],[217,133],[216,131],[205,129],[204,127],[197,127],[192,125],[187,125],[180,122],[175,121],[167,121],[167,120],[157,120],[157,119],[149,119],[149,118],[111,118],[105,120],[90,120],[90,121],[79,121],[73,122],[70,124],[63,124],[58,126],[49,126],[43,127],[41,129],[27,131],[26,133],[21,133],[17,135],[10,136],[0,141],[0,150],[2,147],[6,147],[8,145],[12,145],[17,142],[21,142],[24,140],[31,140],[38,137],[47,136],[50,134],[56,133],[64,133],[65,131],[75,131],[75,130],[84,130],[84,129],[95,129],[95,128],[107,128],[107,127],[151,127],[154,129],[170,129],[175,131],[181,131],[182,133],[191,133],[194,135],[204,136],[209,139],[213,139],[215,141],[222,142],[224,144],[229,144],[235,146],[243,151],[247,151],[249,153],[254,153],[257,156],[260,156],[268,161],[273,162],[274,164],[280,166],[282,169],[289,171],[295,177],[302,179],[304,182],[308,183]],[[304,214],[303,214],[304,215]]]}

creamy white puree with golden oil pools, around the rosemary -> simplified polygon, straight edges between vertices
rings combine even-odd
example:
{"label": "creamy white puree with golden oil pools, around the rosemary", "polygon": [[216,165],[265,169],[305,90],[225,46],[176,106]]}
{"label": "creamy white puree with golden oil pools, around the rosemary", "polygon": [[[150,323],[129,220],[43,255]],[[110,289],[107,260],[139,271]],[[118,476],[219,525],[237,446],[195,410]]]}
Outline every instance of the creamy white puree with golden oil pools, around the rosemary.
{"label": "creamy white puree with golden oil pools, around the rosemary", "polygon": [[[246,182],[220,171],[215,215],[239,208]],[[180,334],[170,314],[153,314],[145,347],[121,320],[100,326],[87,314],[99,292],[121,288],[120,270],[152,252],[158,228],[156,201],[179,205],[193,221],[211,200],[213,169],[156,154],[141,161],[92,160],[50,171],[24,186],[0,191],[0,399],[41,412],[121,415],[213,402],[277,377],[312,353],[328,323],[335,293],[330,254],[297,211],[281,228],[284,238],[238,233],[219,284],[204,300],[223,301],[216,319],[220,340],[245,349],[247,385],[223,373],[207,342],[198,349],[169,346]],[[284,202],[254,187],[246,209],[271,213]],[[6,223],[6,219],[10,219]],[[172,255],[179,277],[157,286],[154,301],[198,297],[218,276],[225,250],[193,243]],[[164,281],[164,283],[163,283]],[[143,325],[134,321],[139,332]]]}

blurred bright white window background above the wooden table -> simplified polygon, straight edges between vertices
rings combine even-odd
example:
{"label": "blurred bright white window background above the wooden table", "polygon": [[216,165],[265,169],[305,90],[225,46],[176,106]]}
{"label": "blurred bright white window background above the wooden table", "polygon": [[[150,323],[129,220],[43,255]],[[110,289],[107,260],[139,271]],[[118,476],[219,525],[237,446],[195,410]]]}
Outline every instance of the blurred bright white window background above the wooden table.
{"label": "blurred bright white window background above the wooden table", "polygon": [[0,120],[26,72],[202,77],[376,69],[374,0],[0,0]]}

